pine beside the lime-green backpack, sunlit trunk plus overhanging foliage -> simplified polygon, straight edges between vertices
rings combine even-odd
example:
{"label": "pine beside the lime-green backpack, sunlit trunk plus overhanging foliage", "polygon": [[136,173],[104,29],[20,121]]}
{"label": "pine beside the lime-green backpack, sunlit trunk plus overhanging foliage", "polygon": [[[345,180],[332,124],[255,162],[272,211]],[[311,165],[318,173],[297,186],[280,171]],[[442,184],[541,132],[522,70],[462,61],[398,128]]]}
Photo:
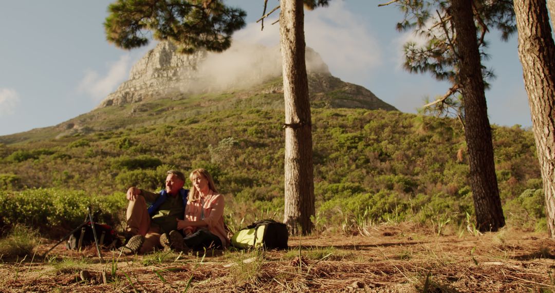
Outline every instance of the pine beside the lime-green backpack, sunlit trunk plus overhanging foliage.
{"label": "pine beside the lime-green backpack, sunlit trunk plus overhanging foliage", "polygon": [[[310,218],[315,214],[303,5],[314,9],[327,6],[328,2],[281,0],[275,8],[281,7],[285,99],[284,221],[292,234],[309,234]],[[108,10],[110,14],[104,27],[108,41],[116,46],[125,49],[143,46],[149,41],[145,31],[151,31],[155,39],[174,42],[183,53],[202,48],[215,51],[229,48],[231,34],[245,25],[246,15],[241,9],[226,7],[221,0],[118,0]]]}

